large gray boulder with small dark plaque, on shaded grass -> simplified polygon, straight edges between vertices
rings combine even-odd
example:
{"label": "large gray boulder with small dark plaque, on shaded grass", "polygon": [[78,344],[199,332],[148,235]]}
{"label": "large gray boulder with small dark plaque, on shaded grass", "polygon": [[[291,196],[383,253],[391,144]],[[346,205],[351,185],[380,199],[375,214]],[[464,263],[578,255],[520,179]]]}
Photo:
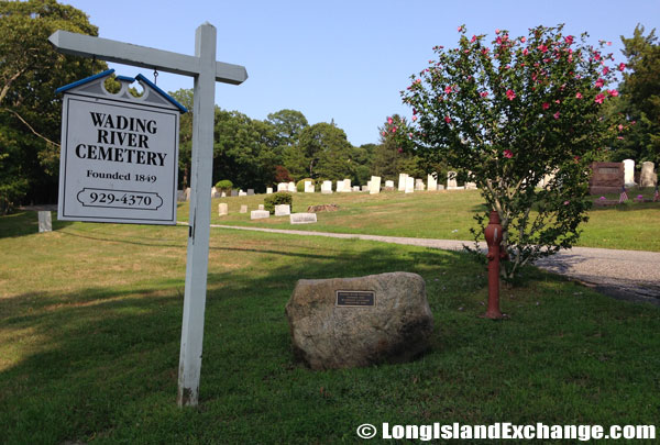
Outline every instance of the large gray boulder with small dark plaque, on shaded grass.
{"label": "large gray boulder with small dark plaque, on shaded grass", "polygon": [[294,353],[312,369],[409,361],[433,331],[425,281],[408,272],[299,280],[286,315]]}

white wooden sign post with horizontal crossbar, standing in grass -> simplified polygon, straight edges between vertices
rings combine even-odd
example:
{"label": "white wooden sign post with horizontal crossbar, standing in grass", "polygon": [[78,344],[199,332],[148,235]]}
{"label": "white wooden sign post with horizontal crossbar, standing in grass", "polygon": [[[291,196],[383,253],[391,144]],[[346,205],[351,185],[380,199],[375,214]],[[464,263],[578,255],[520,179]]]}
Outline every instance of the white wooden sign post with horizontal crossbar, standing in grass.
{"label": "white wooden sign post with horizontal crossbar, standing in grass", "polygon": [[190,216],[177,403],[197,405],[204,313],[209,265],[211,220],[211,173],[213,165],[213,118],[216,81],[240,85],[248,73],[240,65],[216,60],[216,27],[200,25],[195,34],[195,56],[148,48],[107,38],[56,31],[51,43],[61,53],[124,65],[191,76],[195,79],[193,105],[193,168]]}

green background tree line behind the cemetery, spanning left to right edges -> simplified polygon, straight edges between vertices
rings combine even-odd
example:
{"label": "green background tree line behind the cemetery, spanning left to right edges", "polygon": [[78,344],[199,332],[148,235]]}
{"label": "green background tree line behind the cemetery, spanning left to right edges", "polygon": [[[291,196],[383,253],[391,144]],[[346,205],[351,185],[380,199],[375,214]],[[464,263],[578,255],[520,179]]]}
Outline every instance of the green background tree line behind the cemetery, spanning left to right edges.
{"label": "green background tree line behind the cemetery, spanning left to right edges", "polygon": [[[55,89],[107,69],[102,62],[55,52],[47,37],[56,30],[98,35],[85,12],[56,0],[0,2],[0,214],[19,204],[57,201],[62,97]],[[628,125],[608,156],[658,165],[660,47],[654,30],[644,33],[638,26],[632,37],[622,37],[629,69],[607,112],[625,115]],[[193,109],[191,90],[170,94]],[[371,175],[396,180],[399,173],[424,178],[438,171],[446,177],[449,167],[441,158],[400,151],[387,121],[378,129],[377,144],[356,147],[334,122],[310,125],[299,111],[279,110],[260,121],[217,108],[213,182],[229,179],[235,187],[264,190],[302,178],[365,185]],[[190,178],[191,123],[191,113],[182,115],[182,188]]]}

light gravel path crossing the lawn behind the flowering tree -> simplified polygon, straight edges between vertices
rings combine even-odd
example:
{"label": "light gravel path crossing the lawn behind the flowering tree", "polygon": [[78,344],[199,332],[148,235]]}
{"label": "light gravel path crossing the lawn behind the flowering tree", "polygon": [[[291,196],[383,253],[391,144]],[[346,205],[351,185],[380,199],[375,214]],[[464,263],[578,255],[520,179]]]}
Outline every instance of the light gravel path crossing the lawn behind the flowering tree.
{"label": "light gravel path crossing the lawn behind the flowering tree", "polygon": [[[441,248],[444,251],[462,251],[464,244],[474,245],[474,243],[469,241],[454,240],[409,238],[402,236],[308,232],[215,224],[211,224],[211,227],[286,233],[302,236],[358,238]],[[485,249],[486,244],[480,243],[480,247]],[[573,247],[568,251],[561,251],[559,254],[548,258],[540,259],[536,263],[536,266],[564,275],[601,293],[620,300],[650,302],[660,307],[660,253],[657,252]]]}

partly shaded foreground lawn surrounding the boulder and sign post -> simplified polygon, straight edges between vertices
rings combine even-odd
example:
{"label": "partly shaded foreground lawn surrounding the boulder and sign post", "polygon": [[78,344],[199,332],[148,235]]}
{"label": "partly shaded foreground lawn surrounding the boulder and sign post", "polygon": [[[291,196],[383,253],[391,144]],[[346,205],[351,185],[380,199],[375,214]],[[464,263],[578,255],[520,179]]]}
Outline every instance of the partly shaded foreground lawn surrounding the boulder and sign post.
{"label": "partly shaded foreground lawn surrounding the boulder and sign post", "polygon": [[[378,199],[356,205],[354,218]],[[405,199],[400,205],[413,202]],[[493,322],[479,318],[485,269],[464,254],[218,229],[200,404],[179,409],[187,227],[54,221],[54,229],[35,233],[34,212],[0,218],[2,443],[336,444],[362,443],[363,423],[657,425],[660,418],[656,307],[529,268],[517,287],[503,288],[510,319]],[[436,320],[428,354],[329,371],[294,359],[284,307],[298,279],[395,270],[426,280]]]}

